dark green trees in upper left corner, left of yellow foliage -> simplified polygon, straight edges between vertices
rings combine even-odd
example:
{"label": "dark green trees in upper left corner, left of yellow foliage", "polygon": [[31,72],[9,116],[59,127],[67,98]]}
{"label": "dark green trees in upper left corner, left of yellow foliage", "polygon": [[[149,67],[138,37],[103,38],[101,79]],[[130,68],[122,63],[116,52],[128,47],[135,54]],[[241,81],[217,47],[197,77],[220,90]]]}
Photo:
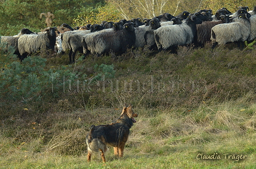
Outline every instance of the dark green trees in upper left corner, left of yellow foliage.
{"label": "dark green trees in upper left corner, left of yellow foliage", "polygon": [[47,12],[55,16],[53,26],[60,26],[62,23],[72,24],[72,20],[81,12],[90,14],[92,9],[103,4],[102,0],[1,1],[0,35],[18,34],[23,27],[30,28],[32,31],[40,31],[47,26],[45,18],[40,19],[39,16],[41,13]]}

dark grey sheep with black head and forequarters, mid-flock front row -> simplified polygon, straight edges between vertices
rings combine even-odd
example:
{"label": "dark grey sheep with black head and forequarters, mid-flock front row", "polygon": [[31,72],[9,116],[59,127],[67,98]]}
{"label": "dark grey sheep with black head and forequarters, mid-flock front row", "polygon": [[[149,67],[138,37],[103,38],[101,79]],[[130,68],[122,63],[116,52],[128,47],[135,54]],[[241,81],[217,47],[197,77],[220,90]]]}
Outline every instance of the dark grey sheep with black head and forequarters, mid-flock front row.
{"label": "dark grey sheep with black head and forequarters, mid-flock front row", "polygon": [[98,55],[114,52],[121,55],[135,43],[134,23],[125,23],[123,29],[118,31],[94,32],[93,35],[83,37],[82,42],[85,55],[89,52]]}

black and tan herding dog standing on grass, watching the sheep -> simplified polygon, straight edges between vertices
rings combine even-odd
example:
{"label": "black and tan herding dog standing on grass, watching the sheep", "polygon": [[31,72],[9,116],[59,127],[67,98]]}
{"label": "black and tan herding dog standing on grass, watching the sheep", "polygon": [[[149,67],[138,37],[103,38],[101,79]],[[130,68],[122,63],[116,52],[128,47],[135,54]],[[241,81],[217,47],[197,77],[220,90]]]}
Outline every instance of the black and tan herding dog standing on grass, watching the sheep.
{"label": "black and tan herding dog standing on grass, watching the sheep", "polygon": [[89,133],[86,135],[86,144],[88,149],[87,161],[90,162],[93,152],[101,151],[101,158],[106,162],[105,152],[107,145],[114,147],[116,156],[123,156],[123,149],[129,137],[130,128],[135,123],[134,113],[131,105],[123,107],[121,116],[107,125],[91,126]]}

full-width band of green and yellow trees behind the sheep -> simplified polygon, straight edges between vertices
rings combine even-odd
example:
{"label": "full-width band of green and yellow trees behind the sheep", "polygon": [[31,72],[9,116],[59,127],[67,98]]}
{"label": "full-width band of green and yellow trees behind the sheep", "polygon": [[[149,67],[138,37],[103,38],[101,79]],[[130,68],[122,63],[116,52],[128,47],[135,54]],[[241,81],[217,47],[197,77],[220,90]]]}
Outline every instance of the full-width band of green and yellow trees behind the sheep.
{"label": "full-width band of green and yellow trees behind the sheep", "polygon": [[52,26],[62,23],[81,26],[87,23],[101,23],[103,20],[116,22],[119,19],[152,18],[163,13],[178,15],[186,10],[194,13],[198,9],[212,9],[213,13],[221,7],[234,12],[238,6],[255,6],[253,0],[237,1],[191,1],[191,0],[67,0],[67,1],[0,1],[0,35],[16,35],[26,27],[32,31],[40,31],[47,27],[45,17],[41,13],[54,15]]}

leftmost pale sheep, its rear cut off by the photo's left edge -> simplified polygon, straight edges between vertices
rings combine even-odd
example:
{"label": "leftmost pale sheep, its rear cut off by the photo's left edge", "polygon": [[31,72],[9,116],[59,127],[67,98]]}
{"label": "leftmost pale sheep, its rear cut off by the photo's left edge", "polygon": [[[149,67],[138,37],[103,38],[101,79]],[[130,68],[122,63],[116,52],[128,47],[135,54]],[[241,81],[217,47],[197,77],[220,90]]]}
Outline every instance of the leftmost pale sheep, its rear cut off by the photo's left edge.
{"label": "leftmost pale sheep, its rear cut off by the photo's left edge", "polygon": [[34,32],[30,31],[28,28],[22,28],[18,35],[14,36],[1,36],[1,44],[6,43],[5,50],[7,51],[9,47],[14,47],[14,54],[21,58],[18,49],[18,39],[20,36],[25,34],[34,34]]}

